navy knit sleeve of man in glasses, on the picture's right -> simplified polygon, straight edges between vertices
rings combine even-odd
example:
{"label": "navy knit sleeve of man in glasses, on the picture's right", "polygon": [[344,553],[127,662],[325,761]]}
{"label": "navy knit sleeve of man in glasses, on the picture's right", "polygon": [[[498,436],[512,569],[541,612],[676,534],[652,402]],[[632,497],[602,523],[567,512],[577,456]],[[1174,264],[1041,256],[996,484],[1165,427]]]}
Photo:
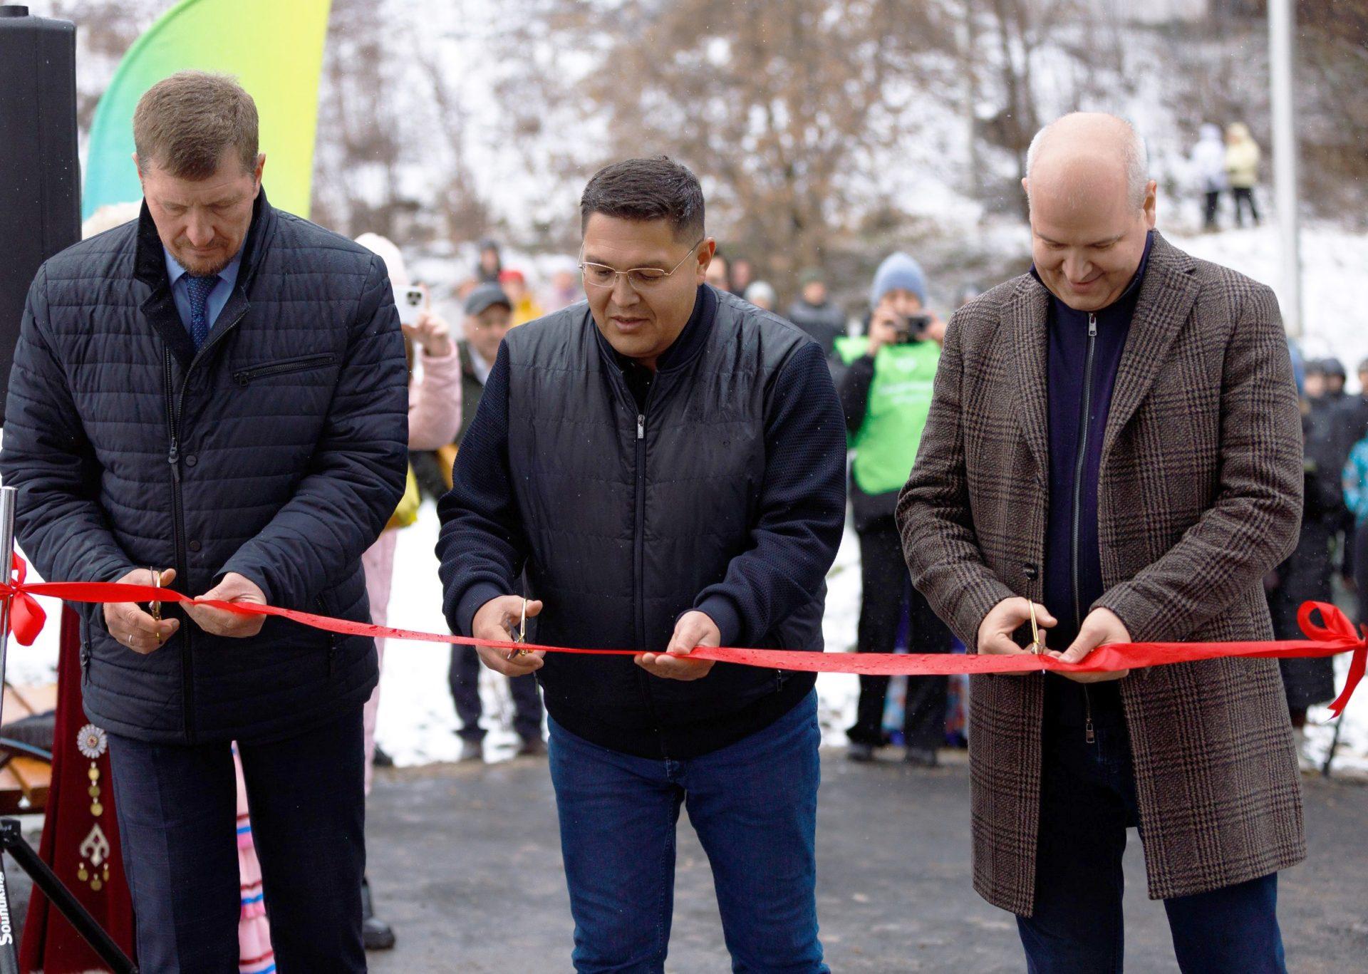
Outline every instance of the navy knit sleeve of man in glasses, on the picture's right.
{"label": "navy knit sleeve of man in glasses, on the picture's right", "polygon": [[810,602],[841,543],[845,419],[819,345],[804,345],[776,376],[765,449],[752,544],[695,602],[717,622],[722,646],[754,646]]}

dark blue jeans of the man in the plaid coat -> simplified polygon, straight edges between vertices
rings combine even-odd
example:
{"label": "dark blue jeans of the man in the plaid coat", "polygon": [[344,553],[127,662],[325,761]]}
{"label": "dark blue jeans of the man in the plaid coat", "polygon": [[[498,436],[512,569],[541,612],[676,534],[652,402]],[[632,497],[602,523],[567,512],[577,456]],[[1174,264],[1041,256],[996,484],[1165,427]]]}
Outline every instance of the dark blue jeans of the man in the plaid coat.
{"label": "dark blue jeans of the man in the plaid coat", "polygon": [[[1036,910],[1018,917],[1026,967],[1040,974],[1122,970],[1122,852],[1138,822],[1124,725],[1047,722]],[[1201,974],[1283,974],[1278,874],[1164,900],[1178,966]]]}

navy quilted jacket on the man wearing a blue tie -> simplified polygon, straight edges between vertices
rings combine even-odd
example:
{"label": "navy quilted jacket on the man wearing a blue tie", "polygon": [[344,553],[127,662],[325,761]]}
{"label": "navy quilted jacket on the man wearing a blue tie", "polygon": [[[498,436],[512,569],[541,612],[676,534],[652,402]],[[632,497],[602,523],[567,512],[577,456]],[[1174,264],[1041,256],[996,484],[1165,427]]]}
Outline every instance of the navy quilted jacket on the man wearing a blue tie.
{"label": "navy quilted jacket on the man wearing a blue tie", "polygon": [[[161,242],[138,222],[48,260],[29,293],[0,471],[44,577],[238,572],[271,605],[367,620],[361,553],[404,490],[404,342],[384,263],[257,197],[238,283],[196,352]],[[300,733],[369,696],[372,640],[268,620],[209,636],[182,616],[138,655],[83,607],[90,718],[166,743]]]}

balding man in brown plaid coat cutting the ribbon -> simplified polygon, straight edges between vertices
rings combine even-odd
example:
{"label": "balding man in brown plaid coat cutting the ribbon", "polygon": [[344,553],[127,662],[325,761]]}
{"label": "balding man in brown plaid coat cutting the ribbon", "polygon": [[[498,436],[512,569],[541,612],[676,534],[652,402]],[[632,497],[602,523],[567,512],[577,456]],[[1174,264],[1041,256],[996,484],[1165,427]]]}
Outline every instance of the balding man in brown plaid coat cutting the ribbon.
{"label": "balding man in brown plaid coat cutting the ribbon", "polygon": [[[912,581],[964,644],[1272,637],[1301,424],[1278,304],[1155,231],[1145,146],[1068,115],[1030,146],[1029,274],[949,323],[899,497]],[[1185,971],[1282,971],[1276,873],[1305,855],[1275,661],[973,677],[974,885],[1031,971],[1122,964],[1138,826]]]}

